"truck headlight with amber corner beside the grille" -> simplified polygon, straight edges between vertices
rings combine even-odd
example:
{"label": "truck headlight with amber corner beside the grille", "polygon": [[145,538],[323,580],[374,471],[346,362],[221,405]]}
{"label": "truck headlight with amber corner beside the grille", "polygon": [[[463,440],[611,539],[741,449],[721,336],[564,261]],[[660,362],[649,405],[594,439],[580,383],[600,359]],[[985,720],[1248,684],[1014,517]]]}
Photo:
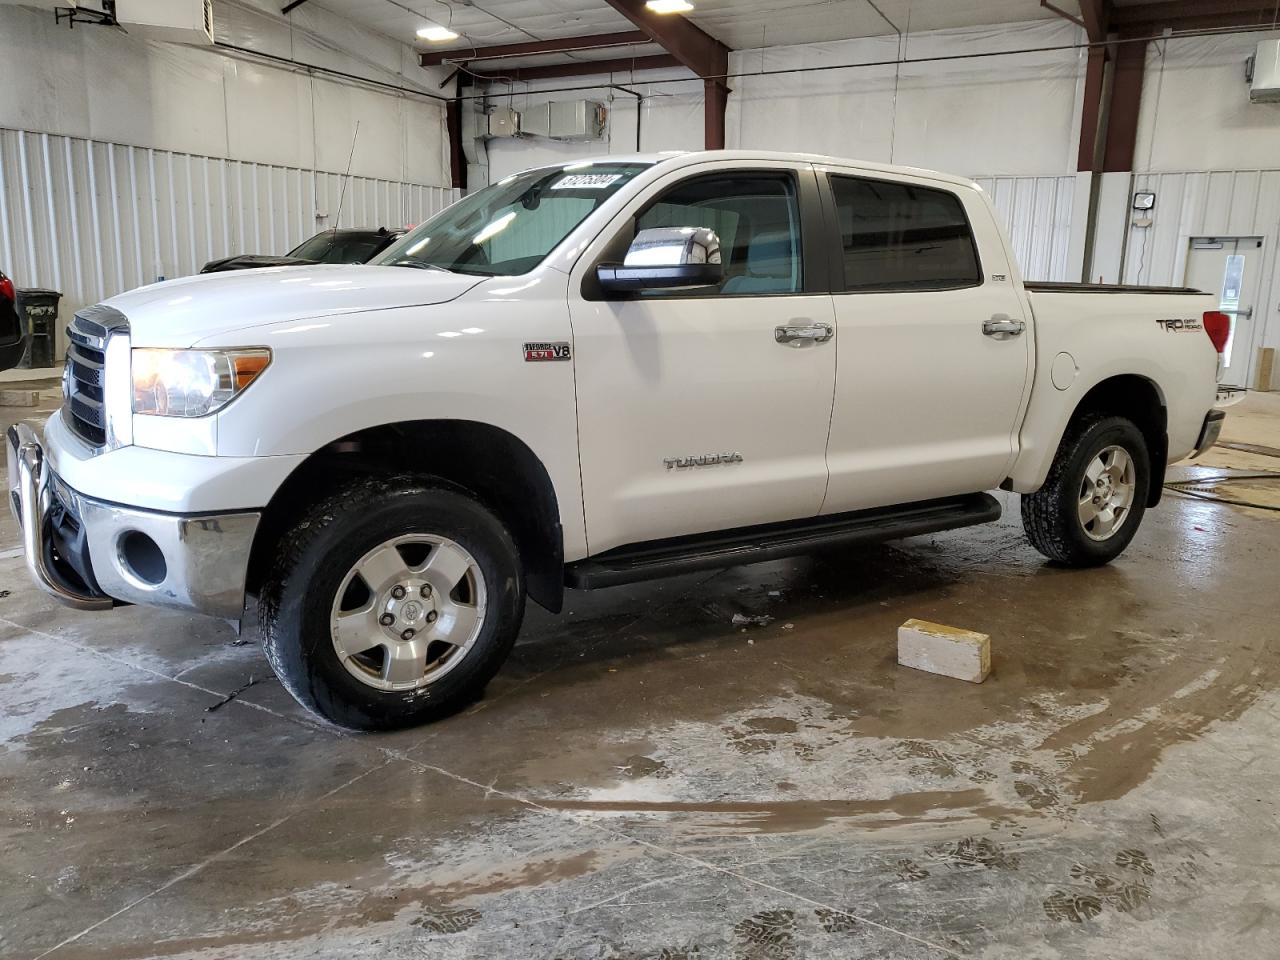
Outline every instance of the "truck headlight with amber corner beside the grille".
{"label": "truck headlight with amber corner beside the grille", "polygon": [[133,412],[202,417],[227,406],[271,362],[271,351],[133,351]]}

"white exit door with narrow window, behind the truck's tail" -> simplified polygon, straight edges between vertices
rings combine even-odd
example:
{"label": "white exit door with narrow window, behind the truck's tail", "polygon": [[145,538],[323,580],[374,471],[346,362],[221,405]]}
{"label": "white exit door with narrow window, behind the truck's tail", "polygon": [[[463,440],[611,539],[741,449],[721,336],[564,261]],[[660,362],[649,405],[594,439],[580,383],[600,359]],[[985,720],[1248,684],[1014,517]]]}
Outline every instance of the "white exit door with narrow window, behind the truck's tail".
{"label": "white exit door with narrow window, behind the truck's tail", "polygon": [[1216,296],[1219,310],[1231,317],[1219,379],[1228,387],[1244,387],[1253,360],[1253,305],[1262,275],[1262,239],[1192,237],[1190,243],[1185,284]]}

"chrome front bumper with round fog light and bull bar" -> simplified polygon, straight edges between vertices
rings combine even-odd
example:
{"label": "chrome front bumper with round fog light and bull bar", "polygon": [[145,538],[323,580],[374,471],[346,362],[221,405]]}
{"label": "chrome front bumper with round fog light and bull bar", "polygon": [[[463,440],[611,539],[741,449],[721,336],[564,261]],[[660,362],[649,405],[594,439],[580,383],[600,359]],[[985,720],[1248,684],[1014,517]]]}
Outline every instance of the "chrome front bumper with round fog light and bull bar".
{"label": "chrome front bumper with round fog light and bull bar", "polygon": [[238,621],[261,515],[177,515],[77,493],[26,424],[10,426],[9,506],[36,584],[78,609],[172,607]]}

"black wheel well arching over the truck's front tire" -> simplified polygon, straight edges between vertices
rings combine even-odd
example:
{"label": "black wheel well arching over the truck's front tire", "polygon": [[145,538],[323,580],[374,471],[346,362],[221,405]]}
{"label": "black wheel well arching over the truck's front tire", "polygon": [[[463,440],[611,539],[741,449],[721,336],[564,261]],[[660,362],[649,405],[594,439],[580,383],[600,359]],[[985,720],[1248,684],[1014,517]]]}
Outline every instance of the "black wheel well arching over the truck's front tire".
{"label": "black wheel well arching over the truck's front tire", "polygon": [[256,594],[280,535],[344,481],[411,471],[475,497],[511,530],[529,596],[552,613],[564,602],[559,500],[541,460],[515,434],[474,420],[406,420],[365,428],[315,451],[262,511],[250,554],[247,591]]}

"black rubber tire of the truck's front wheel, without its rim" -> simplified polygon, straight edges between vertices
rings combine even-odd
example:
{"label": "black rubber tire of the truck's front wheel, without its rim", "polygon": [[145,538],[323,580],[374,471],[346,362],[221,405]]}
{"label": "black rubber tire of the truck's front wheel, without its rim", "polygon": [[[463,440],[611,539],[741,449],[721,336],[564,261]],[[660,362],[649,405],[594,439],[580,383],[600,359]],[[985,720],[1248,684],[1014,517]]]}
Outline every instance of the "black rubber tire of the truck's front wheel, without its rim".
{"label": "black rubber tire of the truck's front wheel, without its rim", "polygon": [[[488,603],[472,646],[416,690],[379,690],[347,671],[330,611],[353,564],[392,538],[428,534],[465,548]],[[465,492],[424,477],[370,477],[315,504],[280,538],[259,598],[262,649],[298,703],[343,727],[393,730],[436,719],[476,699],[511,653],[525,613],[516,544]]]}

